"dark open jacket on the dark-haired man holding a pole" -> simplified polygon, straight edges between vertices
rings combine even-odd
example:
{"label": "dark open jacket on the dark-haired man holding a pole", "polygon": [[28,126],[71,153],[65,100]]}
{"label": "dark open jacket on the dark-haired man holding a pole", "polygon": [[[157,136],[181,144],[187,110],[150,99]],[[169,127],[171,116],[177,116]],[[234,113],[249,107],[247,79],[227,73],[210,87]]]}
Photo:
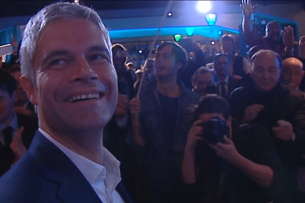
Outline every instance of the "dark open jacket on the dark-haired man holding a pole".
{"label": "dark open jacket on the dark-haired man holding a pole", "polygon": [[[192,114],[190,107],[197,104],[199,95],[186,88],[182,83],[181,95],[177,98],[175,129],[171,145],[168,146],[164,136],[162,108],[156,83],[150,83],[141,92],[141,112],[139,115],[141,134],[145,146],[145,174],[151,187],[163,191],[177,191],[181,185],[181,161],[191,127]],[[164,107],[163,107],[164,108]],[[170,107],[169,107],[170,108]],[[166,121],[165,121],[166,122]]]}

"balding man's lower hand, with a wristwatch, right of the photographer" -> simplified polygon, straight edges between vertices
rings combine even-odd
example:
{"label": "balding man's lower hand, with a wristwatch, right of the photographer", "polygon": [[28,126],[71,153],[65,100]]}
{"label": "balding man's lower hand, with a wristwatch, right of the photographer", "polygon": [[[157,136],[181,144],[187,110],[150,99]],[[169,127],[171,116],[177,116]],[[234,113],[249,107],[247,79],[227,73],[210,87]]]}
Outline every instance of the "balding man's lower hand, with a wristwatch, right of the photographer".
{"label": "balding man's lower hand, with a wristwatch, right of the photographer", "polygon": [[293,128],[291,123],[284,120],[278,120],[278,126],[272,127],[272,131],[276,137],[283,141],[290,141],[293,135]]}

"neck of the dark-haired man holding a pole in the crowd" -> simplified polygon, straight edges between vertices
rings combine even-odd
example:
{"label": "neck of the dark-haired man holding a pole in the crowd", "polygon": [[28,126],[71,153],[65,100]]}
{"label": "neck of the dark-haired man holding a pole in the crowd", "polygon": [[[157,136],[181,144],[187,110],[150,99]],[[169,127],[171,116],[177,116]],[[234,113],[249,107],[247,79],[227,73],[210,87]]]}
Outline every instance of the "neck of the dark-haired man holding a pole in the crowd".
{"label": "neck of the dark-haired man holding a pole in the crowd", "polygon": [[177,98],[181,95],[181,88],[176,77],[157,78],[157,91],[167,97]]}

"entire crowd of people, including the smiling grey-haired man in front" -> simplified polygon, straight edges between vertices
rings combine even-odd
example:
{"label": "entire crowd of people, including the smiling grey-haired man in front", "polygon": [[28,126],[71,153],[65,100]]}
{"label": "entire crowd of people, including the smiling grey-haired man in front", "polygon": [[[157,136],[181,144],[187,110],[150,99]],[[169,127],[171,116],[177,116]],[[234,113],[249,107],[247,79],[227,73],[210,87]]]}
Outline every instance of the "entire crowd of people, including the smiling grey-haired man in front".
{"label": "entire crowd of people, including the smiling grey-haired man in front", "polygon": [[93,9],[39,11],[0,69],[0,202],[305,202],[305,36],[240,7],[248,56],[181,39],[138,70]]}

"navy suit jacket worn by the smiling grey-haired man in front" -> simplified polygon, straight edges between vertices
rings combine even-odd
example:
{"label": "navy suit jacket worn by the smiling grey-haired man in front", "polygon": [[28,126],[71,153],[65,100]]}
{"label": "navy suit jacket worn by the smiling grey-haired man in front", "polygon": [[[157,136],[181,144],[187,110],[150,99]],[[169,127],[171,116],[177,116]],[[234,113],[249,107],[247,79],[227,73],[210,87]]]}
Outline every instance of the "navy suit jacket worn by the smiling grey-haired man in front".
{"label": "navy suit jacket worn by the smiling grey-haired man in front", "polygon": [[[132,202],[121,183],[117,191]],[[72,161],[39,131],[28,152],[0,178],[0,202],[101,202]]]}

